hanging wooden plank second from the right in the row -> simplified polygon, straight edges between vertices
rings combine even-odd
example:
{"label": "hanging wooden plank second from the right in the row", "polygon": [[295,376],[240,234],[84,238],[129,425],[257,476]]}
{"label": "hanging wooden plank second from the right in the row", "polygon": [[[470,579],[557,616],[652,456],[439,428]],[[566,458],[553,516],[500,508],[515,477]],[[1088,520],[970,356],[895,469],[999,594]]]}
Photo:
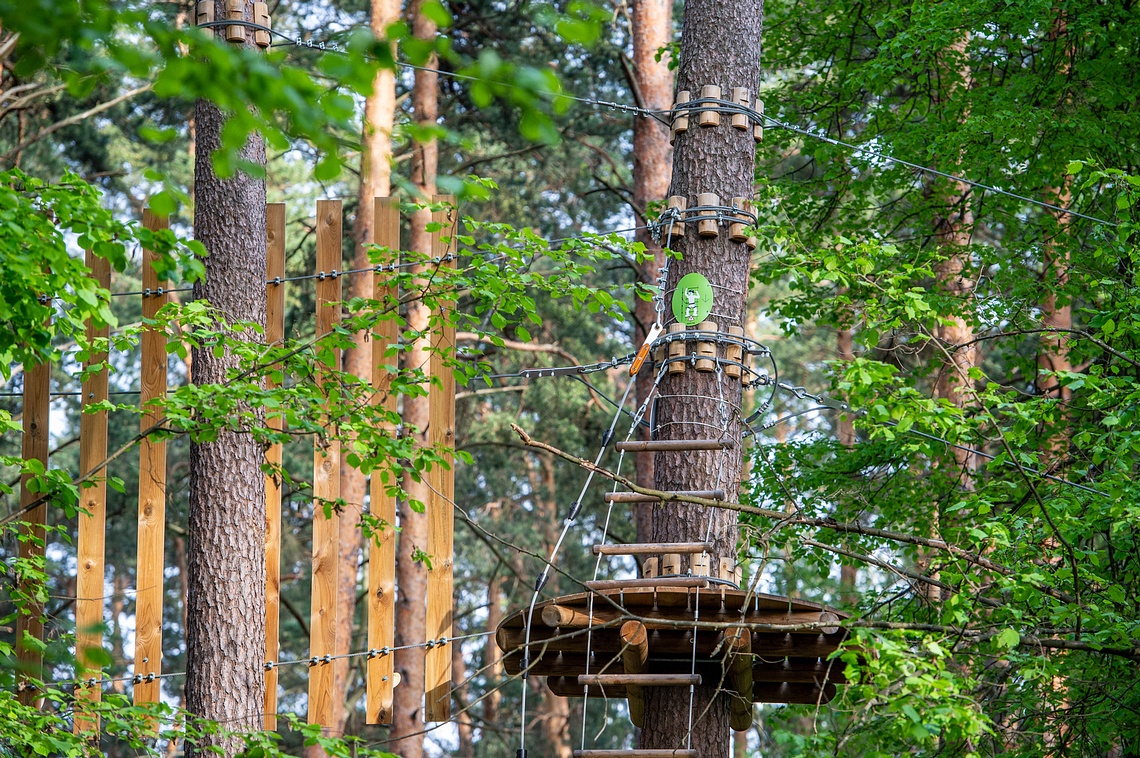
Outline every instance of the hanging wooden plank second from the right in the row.
{"label": "hanging wooden plank second from the right in the row", "polygon": [[[392,251],[389,263],[399,262],[400,250],[400,204],[394,197],[377,197],[375,201],[375,243]],[[396,303],[397,286],[392,274],[375,275],[375,298],[382,303]],[[375,390],[373,402],[388,414],[396,414],[396,393],[389,391],[398,358],[389,357],[389,345],[399,339],[396,319],[376,324],[372,337],[372,385]],[[389,434],[396,434],[396,424],[384,423]],[[388,482],[394,484],[396,482]],[[372,515],[384,522],[384,530],[368,541],[368,649],[383,650],[396,645],[396,497],[389,495],[388,483],[380,471],[374,471],[369,483]],[[365,719],[368,724],[392,723],[392,698],[394,687],[394,658],[381,655],[369,658],[365,674],[367,696]]]}

